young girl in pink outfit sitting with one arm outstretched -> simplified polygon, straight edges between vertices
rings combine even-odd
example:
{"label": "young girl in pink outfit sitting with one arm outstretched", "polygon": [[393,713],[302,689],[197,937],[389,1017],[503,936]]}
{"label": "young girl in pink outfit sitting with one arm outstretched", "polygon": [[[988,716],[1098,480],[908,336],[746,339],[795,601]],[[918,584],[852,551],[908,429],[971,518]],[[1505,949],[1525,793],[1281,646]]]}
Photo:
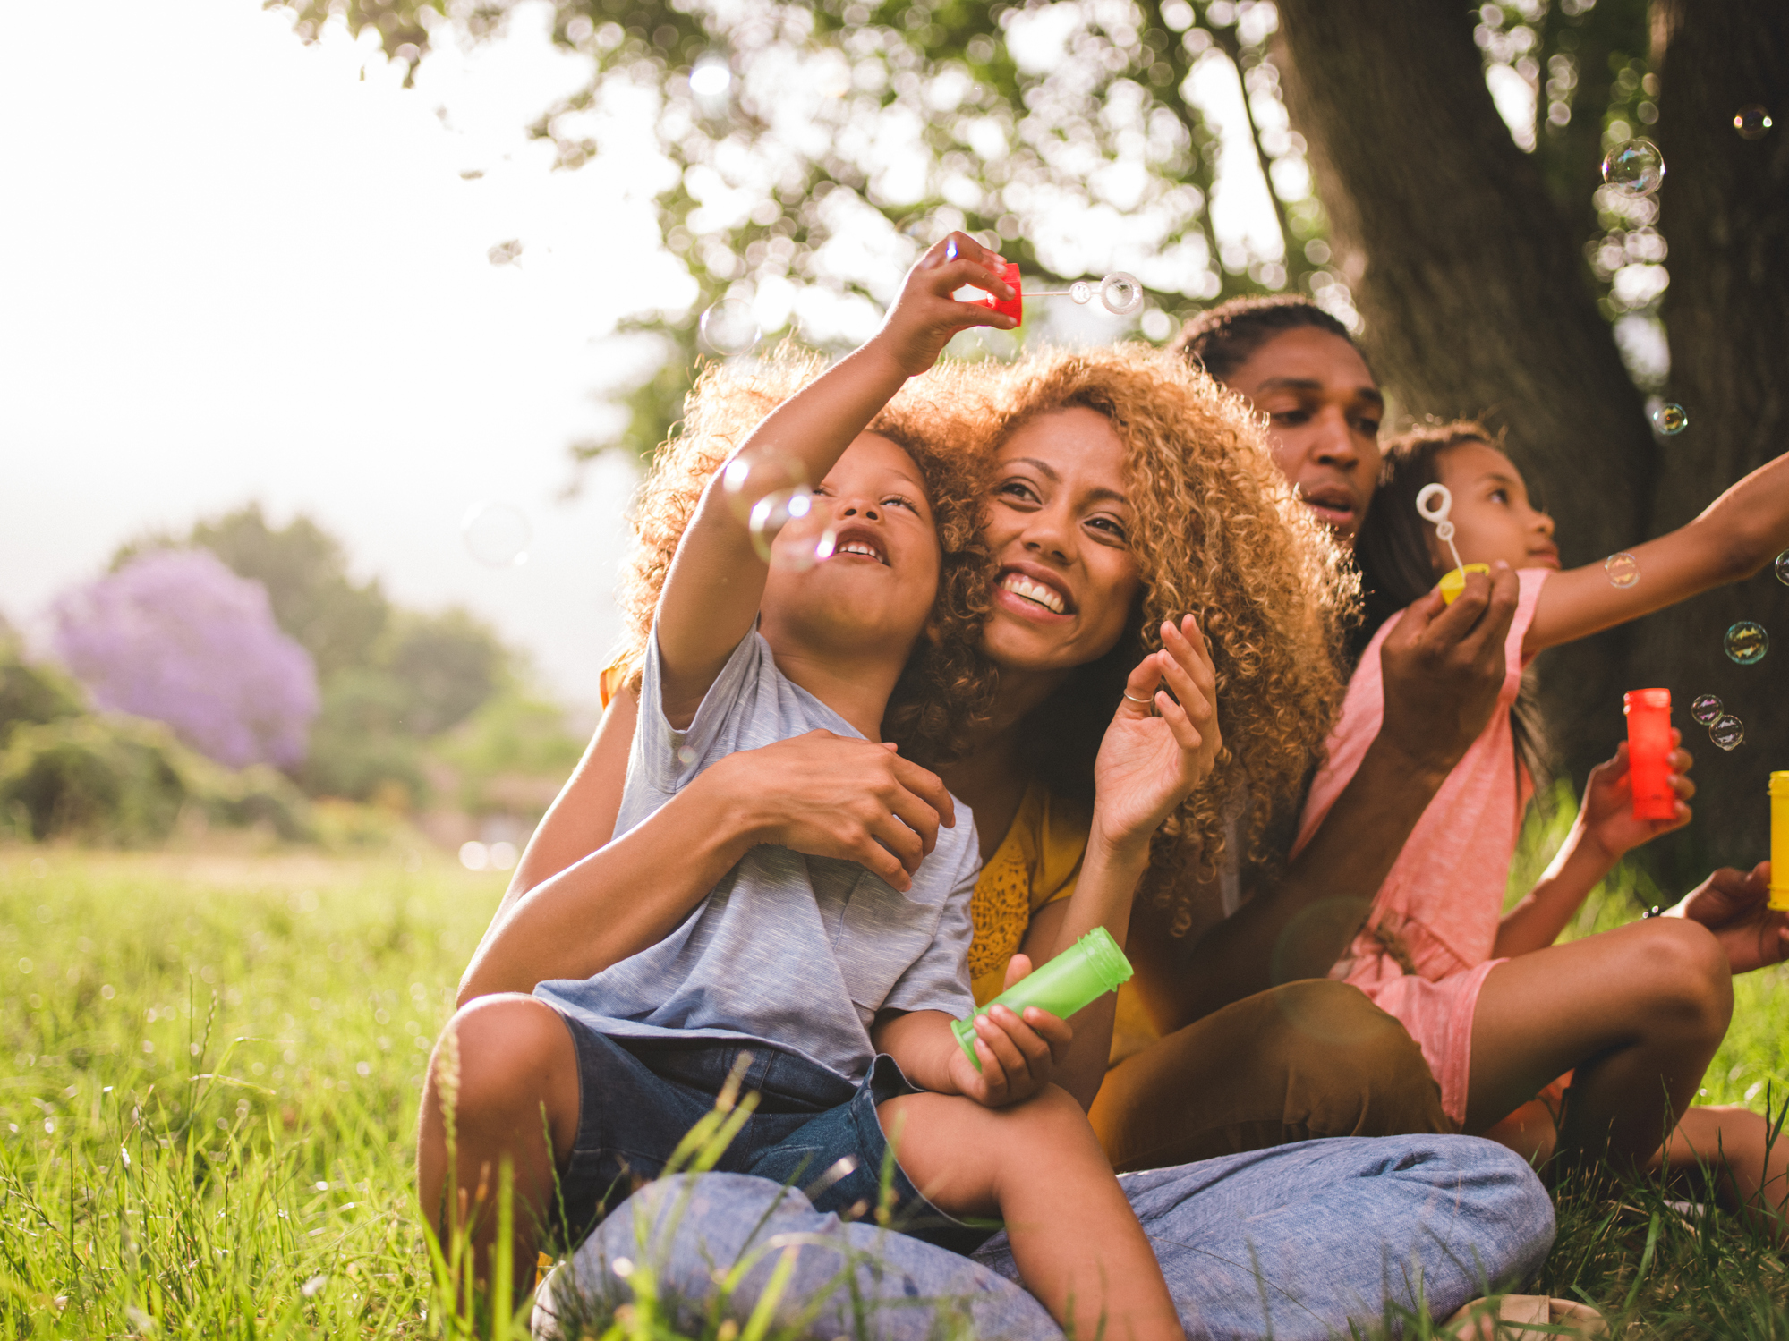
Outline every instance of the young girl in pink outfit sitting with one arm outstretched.
{"label": "young girl in pink outfit sitting with one arm outstretched", "polygon": [[[1632,817],[1626,744],[1619,746],[1592,771],[1551,867],[1517,907],[1501,908],[1531,792],[1530,737],[1512,712],[1522,667],[1546,647],[1757,572],[1789,545],[1789,456],[1746,476],[1689,526],[1635,545],[1641,576],[1623,586],[1601,563],[1560,572],[1553,519],[1528,501],[1521,472],[1481,426],[1420,429],[1394,442],[1356,542],[1367,628],[1385,622],[1349,683],[1329,760],[1306,801],[1301,846],[1379,730],[1379,645],[1395,622],[1390,615],[1454,567],[1437,527],[1417,511],[1417,495],[1431,483],[1453,495],[1460,560],[1519,570],[1508,676],[1499,712],[1424,812],[1331,976],[1358,985],[1403,1021],[1440,1084],[1444,1109],[1463,1130],[1490,1132],[1569,1071],[1558,1114],[1562,1150],[1646,1166],[1662,1134],[1676,1126],[1666,1155],[1712,1160],[1719,1150],[1730,1193],[1746,1200],[1768,1182],[1768,1200],[1778,1205],[1789,1151],[1766,1169],[1764,1119],[1744,1110],[1685,1110],[1726,1032],[1732,973],[1780,958],[1782,919],[1762,958],[1730,958],[1682,908],[1676,917],[1553,944],[1623,853],[1689,822],[1689,755],[1671,755],[1676,815],[1641,822]],[[1714,883],[1737,880],[1742,898],[1762,903],[1766,869]]]}

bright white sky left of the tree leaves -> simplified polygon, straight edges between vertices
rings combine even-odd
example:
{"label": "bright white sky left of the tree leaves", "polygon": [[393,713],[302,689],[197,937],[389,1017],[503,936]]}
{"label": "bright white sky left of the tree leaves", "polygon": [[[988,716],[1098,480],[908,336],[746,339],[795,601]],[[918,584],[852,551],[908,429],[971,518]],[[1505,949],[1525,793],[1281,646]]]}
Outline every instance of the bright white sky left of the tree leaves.
{"label": "bright white sky left of the tree leaves", "polygon": [[[562,502],[567,443],[599,424],[594,342],[674,281],[639,163],[555,173],[526,141],[580,79],[538,18],[404,91],[254,0],[9,9],[0,611],[29,628],[120,540],[259,499],[594,701],[633,468]],[[481,499],[528,515],[522,567],[462,544]]]}

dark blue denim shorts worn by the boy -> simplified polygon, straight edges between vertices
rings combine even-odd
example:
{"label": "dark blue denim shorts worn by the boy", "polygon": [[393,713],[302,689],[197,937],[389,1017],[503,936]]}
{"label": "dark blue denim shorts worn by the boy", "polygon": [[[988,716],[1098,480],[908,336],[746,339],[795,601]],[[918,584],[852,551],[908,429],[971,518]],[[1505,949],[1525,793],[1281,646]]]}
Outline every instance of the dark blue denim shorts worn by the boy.
{"label": "dark blue denim shorts worn by the boy", "polygon": [[[551,1230],[580,1243],[639,1185],[657,1178],[678,1141],[705,1114],[741,1053],[741,1094],[757,1110],[714,1169],[750,1173],[807,1194],[816,1210],[873,1218],[882,1203],[887,1139],[877,1105],[920,1092],[886,1053],[861,1084],[776,1048],[714,1039],[621,1039],[560,1014],[578,1053],[578,1137],[560,1173]],[[841,1160],[846,1160],[841,1168]],[[970,1253],[998,1225],[971,1227],[932,1205],[893,1164],[889,1227]]]}

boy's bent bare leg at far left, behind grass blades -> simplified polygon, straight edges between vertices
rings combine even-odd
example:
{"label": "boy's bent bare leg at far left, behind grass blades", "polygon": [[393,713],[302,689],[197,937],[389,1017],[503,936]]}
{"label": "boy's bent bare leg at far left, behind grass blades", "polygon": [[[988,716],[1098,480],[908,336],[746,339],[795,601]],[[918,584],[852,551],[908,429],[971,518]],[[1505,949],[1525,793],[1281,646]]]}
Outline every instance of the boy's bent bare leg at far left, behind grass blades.
{"label": "boy's bent bare leg at far left, behind grass blades", "polygon": [[[447,1046],[453,1033],[456,1048]],[[458,1060],[458,1078],[449,1078]],[[454,1087],[458,1207],[442,1203],[447,1189],[447,1126],[444,1091]],[[546,1107],[546,1123],[540,1109]],[[546,1126],[553,1128],[547,1148]],[[571,1157],[578,1135],[578,1055],[558,1012],[531,996],[481,996],[442,1032],[429,1058],[417,1126],[417,1193],[422,1219],[447,1236],[471,1228],[472,1271],[487,1280],[487,1257],[497,1237],[497,1177],[503,1160],[515,1169],[515,1286],[533,1286],[537,1228],[553,1207],[555,1151]]]}

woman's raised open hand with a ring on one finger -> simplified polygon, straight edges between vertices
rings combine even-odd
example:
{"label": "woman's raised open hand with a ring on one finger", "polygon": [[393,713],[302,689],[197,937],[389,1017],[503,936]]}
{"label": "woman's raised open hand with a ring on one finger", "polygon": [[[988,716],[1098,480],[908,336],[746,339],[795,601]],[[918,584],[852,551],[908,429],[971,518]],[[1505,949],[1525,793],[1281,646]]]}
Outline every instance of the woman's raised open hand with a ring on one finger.
{"label": "woman's raised open hand with a ring on one finger", "polygon": [[1093,833],[1134,848],[1211,774],[1224,747],[1217,669],[1199,620],[1163,624],[1161,651],[1138,663],[1123,692],[1093,763]]}

